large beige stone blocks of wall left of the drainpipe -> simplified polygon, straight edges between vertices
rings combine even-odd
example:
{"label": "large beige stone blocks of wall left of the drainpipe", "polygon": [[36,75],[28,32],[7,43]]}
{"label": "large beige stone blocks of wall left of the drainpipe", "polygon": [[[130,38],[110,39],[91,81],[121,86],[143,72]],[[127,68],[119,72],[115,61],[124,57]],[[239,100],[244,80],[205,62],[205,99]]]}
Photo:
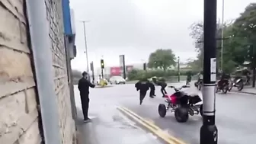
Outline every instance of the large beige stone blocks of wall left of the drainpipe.
{"label": "large beige stone blocks of wall left of the drainpipe", "polygon": [[0,143],[40,144],[22,0],[0,0]]}

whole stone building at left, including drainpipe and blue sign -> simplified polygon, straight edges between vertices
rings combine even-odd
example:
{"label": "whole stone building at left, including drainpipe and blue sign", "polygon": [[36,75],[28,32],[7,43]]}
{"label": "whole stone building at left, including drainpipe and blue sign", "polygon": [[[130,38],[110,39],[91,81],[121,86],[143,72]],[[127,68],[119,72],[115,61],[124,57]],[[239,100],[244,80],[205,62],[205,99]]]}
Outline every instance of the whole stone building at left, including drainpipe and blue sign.
{"label": "whole stone building at left, including drainpipe and blue sign", "polygon": [[0,143],[75,143],[69,1],[0,3]]}

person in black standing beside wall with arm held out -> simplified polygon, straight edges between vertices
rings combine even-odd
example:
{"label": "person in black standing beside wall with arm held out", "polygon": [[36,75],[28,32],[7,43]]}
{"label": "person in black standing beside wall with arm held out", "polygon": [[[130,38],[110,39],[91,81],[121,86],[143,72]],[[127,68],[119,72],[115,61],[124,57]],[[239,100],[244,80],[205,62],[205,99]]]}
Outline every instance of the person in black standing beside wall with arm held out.
{"label": "person in black standing beside wall with arm held out", "polygon": [[80,98],[82,103],[82,112],[84,115],[84,122],[89,122],[91,119],[88,117],[89,108],[89,88],[95,88],[88,80],[88,73],[82,72],[82,78],[78,82],[78,90],[80,91]]}

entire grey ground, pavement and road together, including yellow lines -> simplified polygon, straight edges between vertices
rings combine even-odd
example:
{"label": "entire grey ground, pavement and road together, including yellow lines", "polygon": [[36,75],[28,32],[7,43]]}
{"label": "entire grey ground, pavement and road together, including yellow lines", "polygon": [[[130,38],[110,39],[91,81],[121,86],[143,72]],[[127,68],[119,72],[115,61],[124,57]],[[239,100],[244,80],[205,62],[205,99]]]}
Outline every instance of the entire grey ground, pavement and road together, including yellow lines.
{"label": "entire grey ground, pavement and road together, including yellow lines", "polygon": [[[169,85],[178,86],[183,83]],[[171,88],[167,88],[167,91],[170,94],[173,92]],[[187,88],[185,91],[201,96],[201,92],[196,88]],[[78,121],[80,120],[78,130],[82,137],[80,141],[86,144],[198,144],[202,117],[190,117],[187,123],[178,123],[171,113],[165,118],[159,117],[158,104],[164,103],[164,100],[158,87],[156,95],[156,98],[146,97],[143,104],[139,105],[139,95],[134,85],[91,89],[89,115],[92,122],[82,123],[81,102],[78,90],[75,89]],[[242,94],[236,91],[216,94],[219,143],[255,143],[255,108],[255,94]]]}

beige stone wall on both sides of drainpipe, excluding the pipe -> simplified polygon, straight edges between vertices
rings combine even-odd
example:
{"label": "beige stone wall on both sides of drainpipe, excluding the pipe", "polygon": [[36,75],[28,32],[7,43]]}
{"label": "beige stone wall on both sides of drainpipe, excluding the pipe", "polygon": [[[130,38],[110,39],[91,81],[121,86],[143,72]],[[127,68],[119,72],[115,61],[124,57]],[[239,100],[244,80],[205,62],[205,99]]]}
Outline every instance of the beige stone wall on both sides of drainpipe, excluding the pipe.
{"label": "beige stone wall on both sides of drainpipe, excluding the pipe", "polygon": [[[0,143],[39,144],[37,94],[27,44],[24,0],[0,0]],[[72,144],[72,120],[61,0],[45,0],[53,57],[59,132],[62,144]]]}

